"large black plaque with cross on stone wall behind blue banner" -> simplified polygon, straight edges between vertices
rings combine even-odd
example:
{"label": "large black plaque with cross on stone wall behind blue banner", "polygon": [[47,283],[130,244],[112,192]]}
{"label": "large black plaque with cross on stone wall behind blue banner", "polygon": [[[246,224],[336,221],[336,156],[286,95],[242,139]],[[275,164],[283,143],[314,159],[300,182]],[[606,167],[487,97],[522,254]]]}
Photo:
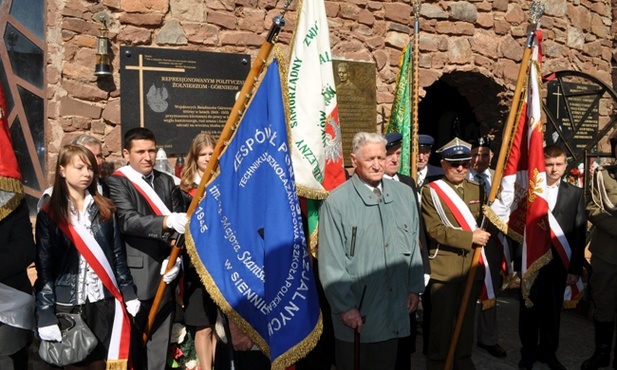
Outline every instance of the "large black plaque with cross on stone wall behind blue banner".
{"label": "large black plaque with cross on stone wall behind blue banner", "polygon": [[168,155],[187,153],[202,131],[218,138],[250,61],[246,54],[121,47],[122,134],[147,127]]}

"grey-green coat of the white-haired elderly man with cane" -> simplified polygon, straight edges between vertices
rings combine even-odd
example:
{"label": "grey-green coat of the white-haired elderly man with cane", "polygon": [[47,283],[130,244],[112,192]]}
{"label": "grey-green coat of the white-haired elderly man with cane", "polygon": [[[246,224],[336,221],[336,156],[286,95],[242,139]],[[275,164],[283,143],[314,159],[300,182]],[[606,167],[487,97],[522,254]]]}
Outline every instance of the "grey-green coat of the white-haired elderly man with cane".
{"label": "grey-green coat of the white-haired elderly man with cane", "polygon": [[366,316],[363,343],[408,336],[408,294],[424,291],[419,215],[416,207],[403,206],[413,204],[412,191],[394,180],[382,184],[378,199],[354,175],[319,211],[319,277],[334,335],[346,342],[353,342],[354,331],[339,315],[354,307]]}

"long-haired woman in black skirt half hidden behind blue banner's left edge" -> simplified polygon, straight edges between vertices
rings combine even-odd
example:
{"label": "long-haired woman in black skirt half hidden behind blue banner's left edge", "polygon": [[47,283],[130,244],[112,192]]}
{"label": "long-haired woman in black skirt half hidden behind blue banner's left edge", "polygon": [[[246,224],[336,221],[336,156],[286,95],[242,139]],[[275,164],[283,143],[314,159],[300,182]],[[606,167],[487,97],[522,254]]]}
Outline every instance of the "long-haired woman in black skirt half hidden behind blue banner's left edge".
{"label": "long-haired woman in black skirt half hidden behind blue banner's left edge", "polygon": [[[216,142],[205,132],[195,136],[191,150],[182,169],[180,189],[188,209],[195,190],[201,182]],[[188,261],[188,256],[185,256]],[[195,266],[188,263],[184,278],[184,322],[195,328],[195,352],[202,369],[210,370],[213,364],[216,337],[213,327],[216,322],[216,304],[204,288]]]}

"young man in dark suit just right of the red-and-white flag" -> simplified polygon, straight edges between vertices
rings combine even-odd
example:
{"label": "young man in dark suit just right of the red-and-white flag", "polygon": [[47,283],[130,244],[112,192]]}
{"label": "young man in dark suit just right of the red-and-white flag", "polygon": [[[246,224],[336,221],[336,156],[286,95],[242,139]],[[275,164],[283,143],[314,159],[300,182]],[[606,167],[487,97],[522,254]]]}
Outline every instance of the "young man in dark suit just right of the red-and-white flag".
{"label": "young man in dark suit just right of the red-and-white flag", "polygon": [[[585,203],[583,190],[561,181],[566,171],[566,154],[556,145],[544,148],[547,201],[550,212],[563,230],[572,251],[569,267],[551,246],[552,259],[538,273],[527,307],[521,299],[519,336],[521,339],[520,369],[530,370],[534,361],[546,363],[551,370],[565,367],[555,356],[559,345],[559,321],[566,285],[575,284],[581,275],[585,247]],[[555,230],[553,230],[555,231]]]}

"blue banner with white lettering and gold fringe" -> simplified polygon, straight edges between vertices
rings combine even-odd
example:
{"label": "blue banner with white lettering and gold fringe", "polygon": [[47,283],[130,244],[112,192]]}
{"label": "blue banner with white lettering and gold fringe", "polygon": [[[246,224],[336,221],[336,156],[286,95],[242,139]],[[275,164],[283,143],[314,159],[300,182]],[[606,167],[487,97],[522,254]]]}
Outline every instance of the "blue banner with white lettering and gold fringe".
{"label": "blue banner with white lettering and gold fringe", "polygon": [[275,370],[304,357],[322,329],[281,91],[274,60],[187,232],[206,289]]}

